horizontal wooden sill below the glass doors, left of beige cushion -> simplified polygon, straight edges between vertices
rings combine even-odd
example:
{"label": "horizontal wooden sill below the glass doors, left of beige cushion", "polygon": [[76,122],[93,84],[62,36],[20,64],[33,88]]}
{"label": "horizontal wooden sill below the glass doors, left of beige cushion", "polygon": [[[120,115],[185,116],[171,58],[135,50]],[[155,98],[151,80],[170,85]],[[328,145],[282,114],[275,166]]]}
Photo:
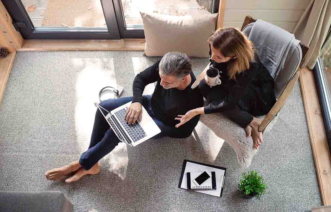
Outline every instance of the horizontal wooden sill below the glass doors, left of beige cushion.
{"label": "horizontal wooden sill below the glass doors, left of beige cushion", "polygon": [[65,50],[138,50],[145,49],[145,39],[121,40],[24,40],[19,51]]}

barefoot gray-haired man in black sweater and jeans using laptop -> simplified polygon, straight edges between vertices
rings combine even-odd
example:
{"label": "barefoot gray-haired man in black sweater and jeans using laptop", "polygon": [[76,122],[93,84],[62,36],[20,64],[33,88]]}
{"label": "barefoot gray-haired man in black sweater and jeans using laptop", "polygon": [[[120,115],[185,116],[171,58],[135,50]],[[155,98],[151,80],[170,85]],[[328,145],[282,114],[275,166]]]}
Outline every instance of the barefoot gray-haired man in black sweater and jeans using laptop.
{"label": "barefoot gray-haired man in black sweater and jeans using laptop", "polygon": [[[162,60],[139,73],[133,81],[133,97],[108,99],[100,102],[100,106],[112,111],[119,106],[132,101],[126,112],[126,122],[134,124],[142,114],[142,106],[158,125],[161,133],[153,138],[169,136],[173,138],[186,138],[191,135],[200,116],[176,128],[178,120],[187,111],[203,105],[203,97],[198,89],[191,89],[196,80],[192,65],[187,55],[177,52],[167,53]],[[142,95],[149,83],[157,82],[154,93]],[[81,154],[80,159],[71,164],[52,169],[45,173],[49,180],[59,180],[64,176],[77,171],[66,180],[71,183],[82,176],[95,175],[100,172],[98,161],[110,153],[119,143],[119,139],[109,124],[97,110],[88,150]]]}

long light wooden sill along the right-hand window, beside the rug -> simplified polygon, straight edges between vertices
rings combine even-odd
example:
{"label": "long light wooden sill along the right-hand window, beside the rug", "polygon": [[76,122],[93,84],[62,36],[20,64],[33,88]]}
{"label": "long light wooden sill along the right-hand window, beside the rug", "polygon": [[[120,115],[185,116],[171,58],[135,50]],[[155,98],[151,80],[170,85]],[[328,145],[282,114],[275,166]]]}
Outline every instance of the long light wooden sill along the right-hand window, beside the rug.
{"label": "long light wooden sill along the right-hand window, beside the rug", "polygon": [[300,71],[300,86],[305,106],[311,149],[323,205],[331,205],[331,156],[323,117],[314,81],[314,75],[306,67]]}

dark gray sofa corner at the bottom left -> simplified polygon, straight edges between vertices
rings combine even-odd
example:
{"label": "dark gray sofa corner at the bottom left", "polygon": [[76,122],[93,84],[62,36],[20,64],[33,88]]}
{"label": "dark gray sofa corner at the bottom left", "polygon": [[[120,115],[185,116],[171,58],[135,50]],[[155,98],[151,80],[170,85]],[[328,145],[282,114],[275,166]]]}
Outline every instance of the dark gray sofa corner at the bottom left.
{"label": "dark gray sofa corner at the bottom left", "polygon": [[1,212],[72,212],[72,208],[60,191],[0,191]]}

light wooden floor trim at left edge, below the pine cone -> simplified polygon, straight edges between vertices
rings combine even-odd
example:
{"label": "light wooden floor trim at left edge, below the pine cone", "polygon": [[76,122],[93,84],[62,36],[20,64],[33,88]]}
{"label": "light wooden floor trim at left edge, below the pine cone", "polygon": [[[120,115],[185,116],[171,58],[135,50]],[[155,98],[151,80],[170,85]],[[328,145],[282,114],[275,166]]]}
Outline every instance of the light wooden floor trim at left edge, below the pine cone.
{"label": "light wooden floor trim at left edge, below the pine cone", "polygon": [[12,70],[16,52],[9,53],[7,57],[0,58],[0,105],[6,89],[7,80]]}

